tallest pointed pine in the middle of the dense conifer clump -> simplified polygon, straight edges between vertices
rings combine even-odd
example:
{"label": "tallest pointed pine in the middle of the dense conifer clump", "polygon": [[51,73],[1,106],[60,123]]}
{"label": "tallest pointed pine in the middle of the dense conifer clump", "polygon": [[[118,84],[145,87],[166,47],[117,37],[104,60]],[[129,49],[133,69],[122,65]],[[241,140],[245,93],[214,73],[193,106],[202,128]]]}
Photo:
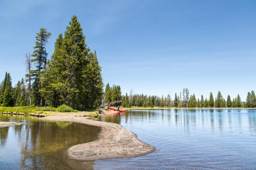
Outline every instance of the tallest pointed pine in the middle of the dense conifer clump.
{"label": "tallest pointed pine in the middle of the dense conifer clump", "polygon": [[[71,105],[72,108],[76,107],[77,100],[83,99],[84,95],[84,83],[86,82],[86,76],[83,76],[84,69],[87,65],[86,56],[90,49],[87,47],[83,35],[80,22],[77,21],[77,17],[73,16],[66,27],[63,43],[62,43],[62,55],[65,61],[64,78],[66,80],[66,103]],[[87,87],[86,87],[87,88]]]}

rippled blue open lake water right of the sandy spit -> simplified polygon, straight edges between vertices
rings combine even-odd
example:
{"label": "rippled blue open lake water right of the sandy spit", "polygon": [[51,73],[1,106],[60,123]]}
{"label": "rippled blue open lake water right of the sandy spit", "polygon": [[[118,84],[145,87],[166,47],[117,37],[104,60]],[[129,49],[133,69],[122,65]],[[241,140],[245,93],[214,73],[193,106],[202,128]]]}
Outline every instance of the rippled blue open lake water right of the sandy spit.
{"label": "rippled blue open lake water right of the sandy spit", "polygon": [[95,169],[256,169],[255,109],[136,110],[107,115],[155,146],[137,158],[95,161]]}

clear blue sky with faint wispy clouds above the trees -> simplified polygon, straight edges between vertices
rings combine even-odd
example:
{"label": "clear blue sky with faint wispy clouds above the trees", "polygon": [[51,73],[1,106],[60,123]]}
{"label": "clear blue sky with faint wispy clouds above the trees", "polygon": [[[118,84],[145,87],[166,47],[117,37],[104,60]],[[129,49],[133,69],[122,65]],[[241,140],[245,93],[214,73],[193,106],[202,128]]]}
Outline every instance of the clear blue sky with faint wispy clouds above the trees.
{"label": "clear blue sky with faint wispy clouds above the trees", "polygon": [[256,1],[0,1],[0,81],[25,76],[26,52],[40,28],[54,43],[77,16],[103,82],[122,94],[174,98],[188,88],[196,98],[218,91],[227,100],[256,90]]}

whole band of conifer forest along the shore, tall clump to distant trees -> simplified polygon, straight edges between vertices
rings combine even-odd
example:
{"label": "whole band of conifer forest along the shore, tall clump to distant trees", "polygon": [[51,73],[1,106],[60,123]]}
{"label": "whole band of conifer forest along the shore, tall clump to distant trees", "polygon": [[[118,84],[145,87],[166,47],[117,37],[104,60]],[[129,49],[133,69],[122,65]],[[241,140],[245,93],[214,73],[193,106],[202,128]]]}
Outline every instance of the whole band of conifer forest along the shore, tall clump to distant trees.
{"label": "whole band of conifer forest along the shore, tall clump to distant trees", "polygon": [[64,35],[60,33],[54,44],[54,52],[47,59],[47,43],[51,33],[40,28],[36,33],[34,52],[25,53],[27,73],[12,86],[10,73],[6,71],[0,84],[0,112],[48,114],[50,112],[94,112],[106,106],[123,108],[256,108],[256,97],[252,90],[246,101],[240,95],[224,98],[219,91],[209,98],[201,95],[196,99],[189,90],[164,97],[154,95],[122,95],[121,87],[110,86],[102,81],[102,67],[97,52],[90,51],[85,42],[80,22],[72,16]]}

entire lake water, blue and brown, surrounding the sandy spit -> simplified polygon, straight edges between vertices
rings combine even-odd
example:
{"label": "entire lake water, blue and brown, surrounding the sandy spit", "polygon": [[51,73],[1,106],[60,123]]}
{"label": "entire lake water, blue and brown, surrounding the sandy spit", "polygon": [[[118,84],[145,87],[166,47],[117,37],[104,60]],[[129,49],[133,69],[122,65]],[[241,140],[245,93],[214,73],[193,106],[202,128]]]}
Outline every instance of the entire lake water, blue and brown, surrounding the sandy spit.
{"label": "entire lake water, blue and brown, surrounding the sandy spit", "polygon": [[101,116],[98,120],[120,124],[157,150],[85,163],[67,158],[66,150],[93,141],[101,128],[0,116],[6,119],[26,124],[0,129],[0,169],[256,169],[256,109],[133,110]]}

